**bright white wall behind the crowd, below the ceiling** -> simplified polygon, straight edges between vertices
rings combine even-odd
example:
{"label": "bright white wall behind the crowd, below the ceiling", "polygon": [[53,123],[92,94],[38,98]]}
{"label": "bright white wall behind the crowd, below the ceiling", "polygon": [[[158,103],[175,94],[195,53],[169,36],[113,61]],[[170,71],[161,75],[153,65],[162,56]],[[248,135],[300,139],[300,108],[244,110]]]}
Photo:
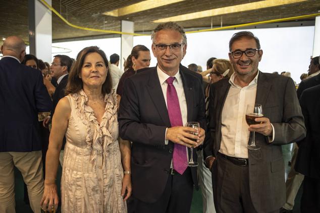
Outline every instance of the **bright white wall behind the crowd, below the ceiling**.
{"label": "bright white wall behind the crowd, below the ceiling", "polygon": [[[190,63],[201,65],[206,68],[206,60],[210,57],[228,59],[229,40],[231,36],[241,30],[212,31],[202,33],[187,34],[188,46],[187,54],[182,60],[182,64],[187,66]],[[286,27],[250,29],[260,40],[263,50],[262,60],[259,69],[262,72],[290,72],[291,77],[297,83],[300,82],[300,75],[307,73],[312,55],[314,26],[311,27]],[[95,39],[86,41],[60,42],[52,46],[71,49],[70,53],[61,53],[76,58],[78,52],[91,45],[99,46],[105,54],[120,55],[120,38]],[[135,36],[133,45],[143,44],[151,50],[150,36]],[[57,49],[52,50],[56,52]],[[57,53],[52,53],[52,56]],[[151,51],[151,64],[154,66],[156,59]]]}

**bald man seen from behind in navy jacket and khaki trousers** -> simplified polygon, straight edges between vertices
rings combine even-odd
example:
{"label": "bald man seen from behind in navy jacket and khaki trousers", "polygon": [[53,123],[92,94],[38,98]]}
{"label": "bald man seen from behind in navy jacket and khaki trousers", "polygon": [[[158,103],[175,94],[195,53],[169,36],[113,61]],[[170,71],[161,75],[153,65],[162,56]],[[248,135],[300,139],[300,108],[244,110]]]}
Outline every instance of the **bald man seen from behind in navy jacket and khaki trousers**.
{"label": "bald man seen from behind in navy jacket and khaki trousers", "polygon": [[43,193],[41,138],[38,112],[52,108],[40,70],[20,62],[23,40],[10,36],[0,60],[0,212],[15,212],[14,166],[28,187],[30,205],[40,212]]}

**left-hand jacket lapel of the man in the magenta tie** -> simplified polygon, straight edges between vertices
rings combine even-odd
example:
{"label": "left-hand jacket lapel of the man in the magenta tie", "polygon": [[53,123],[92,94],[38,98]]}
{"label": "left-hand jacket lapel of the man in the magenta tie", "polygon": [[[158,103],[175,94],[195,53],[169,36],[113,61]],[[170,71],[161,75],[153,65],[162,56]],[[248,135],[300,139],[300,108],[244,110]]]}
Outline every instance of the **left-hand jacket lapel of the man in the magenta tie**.
{"label": "left-hand jacket lapel of the man in the magenta tie", "polygon": [[158,75],[156,73],[156,66],[152,70],[147,72],[150,72],[150,78],[149,78],[147,89],[149,91],[151,100],[153,101],[154,106],[157,109],[165,125],[171,126],[166,101],[161,89]]}

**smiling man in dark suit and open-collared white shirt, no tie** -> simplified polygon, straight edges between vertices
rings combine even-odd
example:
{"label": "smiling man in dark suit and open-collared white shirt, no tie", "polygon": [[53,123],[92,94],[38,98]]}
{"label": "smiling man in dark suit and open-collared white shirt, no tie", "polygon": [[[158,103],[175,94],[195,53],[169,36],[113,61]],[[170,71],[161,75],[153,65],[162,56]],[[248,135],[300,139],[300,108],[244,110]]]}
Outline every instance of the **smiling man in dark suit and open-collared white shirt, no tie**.
{"label": "smiling man in dark suit and open-collared white shirt, no tie", "polygon": [[[305,136],[291,78],[258,70],[262,50],[251,32],[238,32],[229,42],[235,73],[210,88],[209,125],[204,157],[212,171],[217,212],[279,212],[285,202],[282,144]],[[248,104],[261,104],[259,124],[248,126]],[[249,127],[249,128],[248,128]],[[255,131],[257,150],[247,148]]]}

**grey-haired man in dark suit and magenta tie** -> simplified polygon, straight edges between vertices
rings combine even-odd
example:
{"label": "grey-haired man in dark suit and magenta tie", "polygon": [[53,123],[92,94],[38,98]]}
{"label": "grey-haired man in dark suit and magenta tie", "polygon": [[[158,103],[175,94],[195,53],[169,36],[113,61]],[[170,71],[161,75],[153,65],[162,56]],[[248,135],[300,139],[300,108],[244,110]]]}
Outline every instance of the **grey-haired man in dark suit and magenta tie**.
{"label": "grey-haired man in dark suit and magenta tie", "polygon": [[[120,136],[132,141],[134,210],[189,212],[197,170],[186,166],[186,146],[202,144],[206,125],[201,76],[180,64],[187,48],[182,27],[160,24],[151,37],[157,66],[128,78],[120,102]],[[187,121],[201,128],[184,127]]]}

